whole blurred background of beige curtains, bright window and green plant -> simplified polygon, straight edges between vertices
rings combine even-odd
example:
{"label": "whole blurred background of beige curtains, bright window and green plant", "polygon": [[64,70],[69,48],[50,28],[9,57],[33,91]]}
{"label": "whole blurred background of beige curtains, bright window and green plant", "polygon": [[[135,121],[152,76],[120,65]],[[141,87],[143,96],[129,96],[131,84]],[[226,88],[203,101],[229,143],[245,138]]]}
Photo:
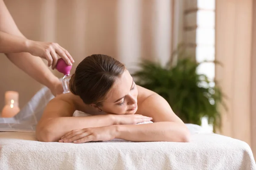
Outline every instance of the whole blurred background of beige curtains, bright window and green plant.
{"label": "whole blurred background of beige curtains, bright window and green plant", "polygon": [[[139,82],[146,76],[151,90],[161,87],[159,93],[185,122],[243,140],[256,153],[256,0],[4,2],[28,39],[57,42],[70,52],[71,73],[91,54],[114,57]],[[150,71],[138,65],[143,59],[152,62]],[[0,63],[0,108],[6,91],[19,93],[22,108],[42,85],[4,54]]]}

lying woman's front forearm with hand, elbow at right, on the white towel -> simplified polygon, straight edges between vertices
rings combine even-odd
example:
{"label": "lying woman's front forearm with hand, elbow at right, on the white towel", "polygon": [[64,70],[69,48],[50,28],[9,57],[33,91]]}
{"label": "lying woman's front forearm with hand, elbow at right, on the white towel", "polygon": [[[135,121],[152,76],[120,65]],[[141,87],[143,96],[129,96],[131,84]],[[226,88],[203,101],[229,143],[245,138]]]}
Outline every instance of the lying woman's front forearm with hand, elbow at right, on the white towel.
{"label": "lying woman's front forearm with hand, elbow at right, on the white towel", "polygon": [[[175,128],[172,126],[175,126]],[[177,131],[180,133],[177,133]],[[59,142],[84,143],[90,141],[108,141],[114,138],[133,142],[189,142],[189,133],[183,128],[183,125],[176,122],[156,122],[143,125],[111,125],[76,129],[62,136]]]}

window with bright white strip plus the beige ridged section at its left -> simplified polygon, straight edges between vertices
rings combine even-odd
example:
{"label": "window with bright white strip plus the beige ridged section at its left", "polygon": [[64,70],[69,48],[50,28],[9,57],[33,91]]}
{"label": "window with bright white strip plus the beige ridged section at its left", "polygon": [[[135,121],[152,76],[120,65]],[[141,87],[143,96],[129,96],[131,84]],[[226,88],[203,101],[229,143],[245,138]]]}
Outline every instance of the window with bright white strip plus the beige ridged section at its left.
{"label": "window with bright white strip plus the beige ridged section at its left", "polygon": [[[215,60],[215,0],[184,1],[183,24],[186,49],[195,55],[196,61]],[[201,64],[197,71],[206,74],[209,80],[215,78],[213,62]],[[206,131],[213,129],[206,117],[202,119],[202,127]]]}

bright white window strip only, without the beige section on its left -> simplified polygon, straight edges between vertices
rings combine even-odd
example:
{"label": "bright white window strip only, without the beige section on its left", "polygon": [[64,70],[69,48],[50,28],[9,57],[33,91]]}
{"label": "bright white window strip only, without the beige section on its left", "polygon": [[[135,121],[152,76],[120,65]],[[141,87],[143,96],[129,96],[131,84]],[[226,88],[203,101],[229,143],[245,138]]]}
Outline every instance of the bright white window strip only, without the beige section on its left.
{"label": "bright white window strip only, without the beige section on its left", "polygon": [[[196,60],[198,62],[213,61],[215,59],[215,0],[198,0],[197,7]],[[206,74],[210,80],[214,80],[215,64],[213,62],[201,64],[198,73]],[[206,131],[213,129],[212,125],[208,125],[205,117],[202,119],[202,127]]]}

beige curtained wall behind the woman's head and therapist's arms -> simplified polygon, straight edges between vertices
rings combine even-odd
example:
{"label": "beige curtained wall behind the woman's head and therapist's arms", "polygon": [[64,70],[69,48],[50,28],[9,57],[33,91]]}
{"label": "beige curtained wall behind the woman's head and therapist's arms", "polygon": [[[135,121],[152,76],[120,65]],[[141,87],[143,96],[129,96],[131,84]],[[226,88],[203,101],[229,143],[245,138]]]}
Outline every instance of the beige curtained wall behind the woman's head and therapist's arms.
{"label": "beige curtained wall behind the woman's head and therapist's arms", "polygon": [[[72,71],[90,54],[108,54],[128,68],[134,68],[140,58],[158,58],[166,62],[175,46],[171,38],[175,34],[172,30],[173,0],[4,2],[27,38],[58,42],[70,52],[76,61]],[[22,107],[42,86],[3,54],[0,54],[0,62],[0,108],[3,108],[4,93],[8,90],[19,92]]]}

